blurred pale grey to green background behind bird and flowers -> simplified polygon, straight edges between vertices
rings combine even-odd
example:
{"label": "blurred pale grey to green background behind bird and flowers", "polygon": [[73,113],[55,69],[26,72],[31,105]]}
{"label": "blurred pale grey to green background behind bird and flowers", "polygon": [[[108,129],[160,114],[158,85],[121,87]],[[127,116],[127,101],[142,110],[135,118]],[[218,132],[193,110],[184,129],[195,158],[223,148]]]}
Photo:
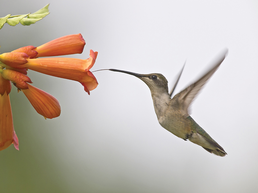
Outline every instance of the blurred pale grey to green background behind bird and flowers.
{"label": "blurred pale grey to green background behind bird and flowers", "polygon": [[[214,156],[162,128],[150,91],[138,78],[94,72],[89,96],[80,83],[34,71],[61,115],[45,120],[22,92],[10,93],[19,151],[0,152],[0,192],[257,192],[258,2],[1,1],[1,15],[50,14],[30,26],[5,24],[0,52],[81,33],[91,69],[162,73],[176,93],[228,56],[191,106],[193,119],[228,153]],[[169,84],[169,85],[170,85]]]}

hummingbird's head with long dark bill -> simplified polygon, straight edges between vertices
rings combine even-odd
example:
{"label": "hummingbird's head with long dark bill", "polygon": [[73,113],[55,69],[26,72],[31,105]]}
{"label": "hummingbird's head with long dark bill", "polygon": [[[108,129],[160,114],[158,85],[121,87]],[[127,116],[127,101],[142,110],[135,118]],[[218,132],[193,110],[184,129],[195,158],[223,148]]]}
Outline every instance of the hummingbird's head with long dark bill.
{"label": "hummingbird's head with long dark bill", "polygon": [[124,71],[124,70],[117,70],[117,69],[108,69],[110,71],[115,72],[122,72],[126,74],[130,74],[136,76],[137,78],[141,79],[146,83],[149,87],[151,94],[159,94],[159,93],[168,93],[168,85],[167,79],[165,76],[159,73],[151,73],[151,74],[138,74],[134,72]]}

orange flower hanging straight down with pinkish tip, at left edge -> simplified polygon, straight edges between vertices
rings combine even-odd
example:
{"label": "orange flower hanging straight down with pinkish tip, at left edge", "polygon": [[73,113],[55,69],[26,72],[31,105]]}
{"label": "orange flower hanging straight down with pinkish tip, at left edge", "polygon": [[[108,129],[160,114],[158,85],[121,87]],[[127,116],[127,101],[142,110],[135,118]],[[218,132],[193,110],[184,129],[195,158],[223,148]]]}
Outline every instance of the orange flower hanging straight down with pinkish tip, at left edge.
{"label": "orange flower hanging straight down with pinkish tip, at left edge", "polygon": [[0,96],[0,151],[11,144],[19,150],[18,138],[13,128],[13,116],[9,95],[5,92]]}

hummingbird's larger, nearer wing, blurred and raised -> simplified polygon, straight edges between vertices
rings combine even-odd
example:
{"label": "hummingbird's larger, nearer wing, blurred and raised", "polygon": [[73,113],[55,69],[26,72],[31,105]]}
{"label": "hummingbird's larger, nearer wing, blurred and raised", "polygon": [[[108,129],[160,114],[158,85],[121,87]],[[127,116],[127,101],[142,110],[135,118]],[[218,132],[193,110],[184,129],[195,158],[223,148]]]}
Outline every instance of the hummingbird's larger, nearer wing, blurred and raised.
{"label": "hummingbird's larger, nearer wing, blurred and raised", "polygon": [[228,49],[224,50],[223,53],[218,57],[214,66],[199,80],[188,86],[186,89],[175,95],[179,104],[179,110],[184,114],[185,117],[189,116],[189,106],[193,99],[196,97],[198,92],[202,89],[204,84],[210,79],[210,77],[216,72],[222,61],[225,59],[228,53]]}

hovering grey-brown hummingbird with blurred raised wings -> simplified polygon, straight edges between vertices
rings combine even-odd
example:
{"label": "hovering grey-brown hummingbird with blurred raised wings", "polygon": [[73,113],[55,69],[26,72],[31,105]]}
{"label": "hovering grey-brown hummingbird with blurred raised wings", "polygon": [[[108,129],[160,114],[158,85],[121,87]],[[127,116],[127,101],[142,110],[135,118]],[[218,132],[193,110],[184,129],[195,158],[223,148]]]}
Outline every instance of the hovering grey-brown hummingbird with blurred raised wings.
{"label": "hovering grey-brown hummingbird with blurred raised wings", "polygon": [[212,154],[224,157],[227,154],[225,150],[189,115],[189,106],[204,84],[218,69],[225,59],[227,52],[228,50],[225,50],[216,62],[214,62],[212,68],[200,79],[176,94],[173,98],[171,96],[180,79],[183,68],[170,93],[168,92],[168,81],[160,73],[138,74],[118,69],[106,70],[130,74],[141,79],[150,89],[155,113],[159,124],[163,128],[185,141],[189,140],[202,146]]}

